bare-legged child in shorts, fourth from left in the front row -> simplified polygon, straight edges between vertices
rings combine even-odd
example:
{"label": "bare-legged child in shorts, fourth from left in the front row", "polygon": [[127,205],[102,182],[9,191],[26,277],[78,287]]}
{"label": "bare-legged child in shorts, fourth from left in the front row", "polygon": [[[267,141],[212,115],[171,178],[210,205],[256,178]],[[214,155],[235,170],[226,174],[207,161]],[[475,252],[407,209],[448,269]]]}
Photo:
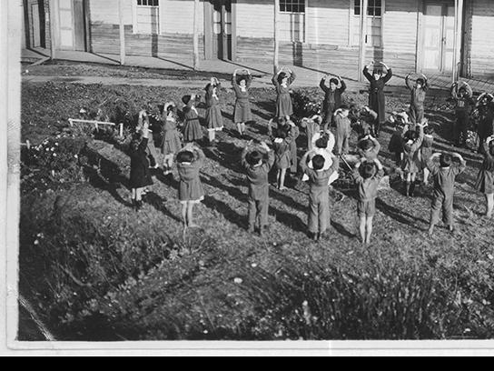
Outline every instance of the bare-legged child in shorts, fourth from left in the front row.
{"label": "bare-legged child in shorts, fourth from left in the front row", "polygon": [[353,172],[359,191],[358,214],[361,219],[361,242],[364,246],[370,245],[372,223],[376,215],[376,198],[382,176],[384,167],[377,158],[372,161],[362,158]]}

